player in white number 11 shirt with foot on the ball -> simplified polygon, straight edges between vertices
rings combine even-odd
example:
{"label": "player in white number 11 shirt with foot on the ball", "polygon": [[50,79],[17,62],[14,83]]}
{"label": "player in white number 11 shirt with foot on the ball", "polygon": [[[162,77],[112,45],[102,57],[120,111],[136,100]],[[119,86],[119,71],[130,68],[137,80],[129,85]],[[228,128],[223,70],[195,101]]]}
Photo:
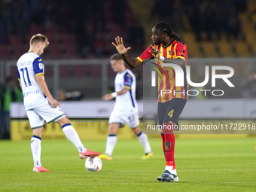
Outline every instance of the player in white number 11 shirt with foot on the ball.
{"label": "player in white number 11 shirt with foot on the ball", "polygon": [[44,120],[57,122],[62,126],[66,137],[78,148],[81,159],[98,156],[100,153],[84,148],[70,120],[59,108],[59,102],[53,99],[44,81],[44,62],[41,54],[49,44],[47,37],[41,34],[32,36],[29,52],[17,61],[17,75],[23,90],[23,100],[29,123],[33,131],[31,149],[34,160],[34,172],[50,172],[41,166],[41,136]]}

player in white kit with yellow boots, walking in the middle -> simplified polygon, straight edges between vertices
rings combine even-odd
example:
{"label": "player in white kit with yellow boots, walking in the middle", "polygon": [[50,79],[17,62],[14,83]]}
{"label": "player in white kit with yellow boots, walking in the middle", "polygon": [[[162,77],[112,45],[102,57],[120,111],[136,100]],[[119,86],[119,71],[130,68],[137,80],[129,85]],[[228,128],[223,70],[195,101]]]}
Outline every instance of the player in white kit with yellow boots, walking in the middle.
{"label": "player in white kit with yellow boots, walking in the middle", "polygon": [[114,80],[114,93],[106,94],[102,99],[105,101],[116,98],[114,109],[109,117],[108,139],[105,154],[99,155],[103,160],[112,160],[114,145],[117,143],[117,130],[127,123],[138,136],[145,155],[142,159],[154,156],[148,142],[148,136],[139,127],[139,111],[136,102],[136,78],[130,69],[126,69],[122,56],[115,53],[110,57],[111,68],[117,72]]}

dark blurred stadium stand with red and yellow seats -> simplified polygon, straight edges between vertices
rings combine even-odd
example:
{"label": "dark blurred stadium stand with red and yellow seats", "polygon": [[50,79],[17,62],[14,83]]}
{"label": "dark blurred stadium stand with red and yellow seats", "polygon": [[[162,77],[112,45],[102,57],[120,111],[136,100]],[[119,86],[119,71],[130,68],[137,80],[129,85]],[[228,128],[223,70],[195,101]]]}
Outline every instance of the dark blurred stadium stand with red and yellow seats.
{"label": "dark blurred stadium stand with red and yellow seats", "polygon": [[[2,58],[16,59],[24,49],[20,44],[38,32],[47,35],[50,47],[53,46],[49,48],[47,58],[108,57],[114,52],[109,42],[117,35],[128,39],[127,45],[134,47],[133,53],[138,55],[139,50],[151,43],[147,37],[158,20],[171,23],[173,30],[189,45],[192,58],[256,55],[252,43],[256,41],[254,0],[155,0],[148,2],[143,11],[139,6],[142,2],[135,0],[101,0],[90,5],[87,2],[2,1],[0,11],[8,14],[5,14],[5,20],[0,20],[0,44],[4,47],[11,44],[7,51],[1,48],[1,53],[5,53]],[[26,6],[31,8],[31,13],[23,9]],[[23,17],[13,10],[20,11]],[[95,17],[90,17],[92,14]],[[135,21],[139,23],[135,24]],[[14,44],[19,44],[20,50]]]}

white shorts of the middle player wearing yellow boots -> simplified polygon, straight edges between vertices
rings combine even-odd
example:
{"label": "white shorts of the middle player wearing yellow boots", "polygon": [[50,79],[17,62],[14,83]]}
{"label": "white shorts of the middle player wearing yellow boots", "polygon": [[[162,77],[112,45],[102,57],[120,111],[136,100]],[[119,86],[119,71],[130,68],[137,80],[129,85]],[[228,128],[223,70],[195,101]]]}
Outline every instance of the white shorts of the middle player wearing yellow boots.
{"label": "white shorts of the middle player wearing yellow boots", "polygon": [[120,123],[120,127],[123,127],[125,123],[130,126],[132,129],[139,126],[139,115],[138,114],[117,114],[111,113],[109,117],[109,124],[111,123]]}

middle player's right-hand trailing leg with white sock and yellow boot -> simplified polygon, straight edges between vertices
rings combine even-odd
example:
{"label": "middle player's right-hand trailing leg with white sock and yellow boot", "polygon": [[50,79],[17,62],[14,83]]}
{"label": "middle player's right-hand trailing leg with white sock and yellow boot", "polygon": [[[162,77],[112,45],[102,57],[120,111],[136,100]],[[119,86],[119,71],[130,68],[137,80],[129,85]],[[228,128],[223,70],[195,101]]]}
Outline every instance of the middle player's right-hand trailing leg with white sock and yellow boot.
{"label": "middle player's right-hand trailing leg with white sock and yellow boot", "polygon": [[142,147],[144,148],[145,155],[143,155],[142,160],[146,160],[148,158],[151,158],[154,156],[154,152],[151,149],[151,145],[148,142],[148,136],[142,132],[141,128],[137,126],[136,128],[133,128],[133,133],[137,135],[137,138],[139,139],[139,142],[142,144]]}

